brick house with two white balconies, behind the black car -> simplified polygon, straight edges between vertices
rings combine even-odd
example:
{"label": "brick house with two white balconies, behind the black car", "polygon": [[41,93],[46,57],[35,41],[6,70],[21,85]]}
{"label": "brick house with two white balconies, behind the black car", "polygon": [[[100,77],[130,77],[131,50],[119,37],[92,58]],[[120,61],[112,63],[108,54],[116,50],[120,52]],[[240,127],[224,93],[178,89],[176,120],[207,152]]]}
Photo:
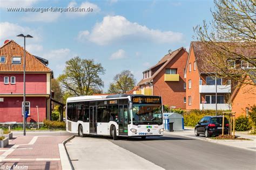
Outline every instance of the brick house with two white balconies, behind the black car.
{"label": "brick house with two white balconies, behind the black car", "polygon": [[[254,48],[242,48],[241,44],[234,44],[231,42],[222,42],[226,46],[235,47],[233,50],[236,53],[255,53]],[[231,93],[234,90],[235,82],[217,78],[217,87],[215,86],[216,69],[208,63],[208,57],[213,56],[212,48],[206,47],[203,42],[191,42],[190,51],[186,63],[186,109],[214,109],[215,93],[217,89],[217,109],[230,110]],[[231,56],[232,57],[232,56]],[[233,69],[242,68],[242,61],[233,61]],[[230,103],[230,104],[228,104]]]}

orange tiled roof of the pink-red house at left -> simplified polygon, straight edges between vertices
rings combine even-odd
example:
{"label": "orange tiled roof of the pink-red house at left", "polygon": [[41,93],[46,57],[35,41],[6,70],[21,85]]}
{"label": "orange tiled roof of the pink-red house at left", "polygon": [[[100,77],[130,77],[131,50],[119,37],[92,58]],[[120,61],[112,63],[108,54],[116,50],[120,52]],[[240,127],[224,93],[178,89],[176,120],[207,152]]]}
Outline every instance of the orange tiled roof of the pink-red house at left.
{"label": "orange tiled roof of the pink-red house at left", "polygon": [[[0,48],[0,56],[5,56],[5,62],[0,62],[0,72],[23,72],[24,48],[14,40],[10,40]],[[21,56],[21,63],[12,63],[13,56]],[[26,72],[52,72],[42,62],[26,51]]]}

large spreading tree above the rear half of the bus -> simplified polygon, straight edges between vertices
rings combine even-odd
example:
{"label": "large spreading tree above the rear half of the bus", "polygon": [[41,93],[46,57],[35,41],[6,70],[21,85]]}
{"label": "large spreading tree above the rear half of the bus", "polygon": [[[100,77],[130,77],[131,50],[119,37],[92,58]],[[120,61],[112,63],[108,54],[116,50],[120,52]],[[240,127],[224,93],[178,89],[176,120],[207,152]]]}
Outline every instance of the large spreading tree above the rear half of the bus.
{"label": "large spreading tree above the rear half of the bus", "polygon": [[64,73],[58,80],[62,84],[65,96],[91,95],[104,87],[104,82],[99,75],[105,74],[105,69],[100,63],[93,60],[81,59],[78,56],[66,61]]}

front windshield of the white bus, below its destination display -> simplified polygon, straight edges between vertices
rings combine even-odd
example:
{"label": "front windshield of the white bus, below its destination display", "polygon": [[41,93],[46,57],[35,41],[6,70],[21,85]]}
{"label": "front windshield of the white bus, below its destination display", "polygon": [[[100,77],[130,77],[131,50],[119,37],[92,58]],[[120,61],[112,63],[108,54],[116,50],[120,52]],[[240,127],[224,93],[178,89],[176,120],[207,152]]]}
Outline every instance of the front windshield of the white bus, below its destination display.
{"label": "front windshield of the white bus, below its destination display", "polygon": [[136,104],[132,107],[132,123],[142,124],[163,124],[161,105]]}

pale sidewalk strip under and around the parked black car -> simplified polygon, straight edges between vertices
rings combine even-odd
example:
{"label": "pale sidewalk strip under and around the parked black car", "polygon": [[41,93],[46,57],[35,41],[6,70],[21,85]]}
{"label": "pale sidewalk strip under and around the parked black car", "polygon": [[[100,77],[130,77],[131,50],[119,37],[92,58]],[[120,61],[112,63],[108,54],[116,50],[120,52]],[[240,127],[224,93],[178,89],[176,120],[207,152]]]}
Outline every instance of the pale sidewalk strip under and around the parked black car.
{"label": "pale sidewalk strip under and around the parked black car", "polygon": [[251,150],[256,152],[256,136],[245,134],[244,132],[235,132],[235,136],[251,139],[251,140],[219,140],[219,139],[211,139],[211,138],[205,138],[203,134],[200,134],[199,137],[194,136],[194,129],[192,128],[185,128],[184,131],[174,131],[174,132],[168,132],[164,131],[165,134],[173,134],[178,136],[184,136],[199,140],[205,140],[210,141],[217,144],[227,145],[227,146],[233,146],[233,147],[239,147],[244,148],[246,150]]}

